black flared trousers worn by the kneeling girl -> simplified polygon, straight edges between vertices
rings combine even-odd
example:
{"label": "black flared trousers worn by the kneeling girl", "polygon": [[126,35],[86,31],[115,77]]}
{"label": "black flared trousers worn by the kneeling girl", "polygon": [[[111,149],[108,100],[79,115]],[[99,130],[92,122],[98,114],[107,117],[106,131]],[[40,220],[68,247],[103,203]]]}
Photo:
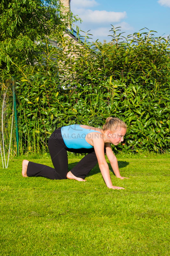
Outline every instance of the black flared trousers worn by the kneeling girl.
{"label": "black flared trousers worn by the kneeling girl", "polygon": [[84,179],[91,169],[97,164],[97,157],[94,148],[67,148],[61,135],[61,128],[55,130],[50,136],[48,140],[48,149],[54,168],[44,164],[29,162],[27,167],[27,176],[41,176],[51,180],[67,179],[67,151],[74,153],[88,153],[71,170],[76,177]]}

